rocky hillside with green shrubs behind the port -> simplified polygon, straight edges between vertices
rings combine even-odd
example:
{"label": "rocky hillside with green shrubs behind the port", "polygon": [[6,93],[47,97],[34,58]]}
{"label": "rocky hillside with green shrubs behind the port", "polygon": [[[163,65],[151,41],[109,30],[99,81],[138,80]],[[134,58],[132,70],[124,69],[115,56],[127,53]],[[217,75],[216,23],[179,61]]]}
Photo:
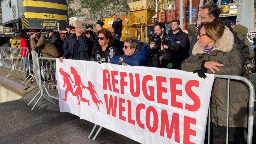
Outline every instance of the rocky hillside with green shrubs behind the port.
{"label": "rocky hillside with green shrubs behind the port", "polygon": [[87,20],[97,21],[112,17],[113,14],[128,13],[127,0],[68,0],[69,18],[74,16],[86,17]]}

